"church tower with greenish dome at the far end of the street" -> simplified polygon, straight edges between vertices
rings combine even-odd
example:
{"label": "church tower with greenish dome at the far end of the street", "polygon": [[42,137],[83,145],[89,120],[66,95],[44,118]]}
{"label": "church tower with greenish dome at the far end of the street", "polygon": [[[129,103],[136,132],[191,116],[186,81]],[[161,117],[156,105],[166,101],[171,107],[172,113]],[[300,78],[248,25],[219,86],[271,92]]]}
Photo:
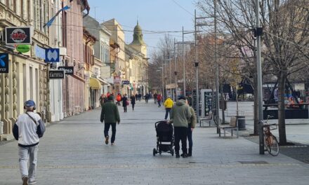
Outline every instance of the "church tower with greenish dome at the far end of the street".
{"label": "church tower with greenish dome at the far end of the street", "polygon": [[133,41],[130,43],[130,46],[147,57],[147,45],[143,40],[142,28],[138,25],[138,21],[136,27],[134,27]]}

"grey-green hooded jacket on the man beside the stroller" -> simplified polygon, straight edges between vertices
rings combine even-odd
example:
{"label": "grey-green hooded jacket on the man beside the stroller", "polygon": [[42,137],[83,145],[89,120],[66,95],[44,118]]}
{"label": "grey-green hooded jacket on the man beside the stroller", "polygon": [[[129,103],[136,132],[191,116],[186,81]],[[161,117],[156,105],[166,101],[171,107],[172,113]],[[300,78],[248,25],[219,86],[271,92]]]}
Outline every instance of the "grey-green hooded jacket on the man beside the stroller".
{"label": "grey-green hooded jacket on the man beside the stroller", "polygon": [[190,107],[185,100],[178,100],[171,108],[171,121],[174,127],[188,128],[188,119],[192,116]]}

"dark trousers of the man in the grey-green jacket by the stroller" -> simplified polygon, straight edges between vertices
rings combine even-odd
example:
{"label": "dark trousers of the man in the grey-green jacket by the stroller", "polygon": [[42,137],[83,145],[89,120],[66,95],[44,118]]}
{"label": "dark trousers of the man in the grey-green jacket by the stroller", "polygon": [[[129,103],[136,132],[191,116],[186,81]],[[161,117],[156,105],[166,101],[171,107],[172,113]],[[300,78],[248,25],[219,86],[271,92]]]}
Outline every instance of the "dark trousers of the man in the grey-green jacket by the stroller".
{"label": "dark trousers of the man in the grey-green jacket by the stroller", "polygon": [[188,128],[175,127],[174,135],[175,135],[175,152],[179,154],[179,142],[181,140],[181,150],[183,153],[187,153],[187,131]]}

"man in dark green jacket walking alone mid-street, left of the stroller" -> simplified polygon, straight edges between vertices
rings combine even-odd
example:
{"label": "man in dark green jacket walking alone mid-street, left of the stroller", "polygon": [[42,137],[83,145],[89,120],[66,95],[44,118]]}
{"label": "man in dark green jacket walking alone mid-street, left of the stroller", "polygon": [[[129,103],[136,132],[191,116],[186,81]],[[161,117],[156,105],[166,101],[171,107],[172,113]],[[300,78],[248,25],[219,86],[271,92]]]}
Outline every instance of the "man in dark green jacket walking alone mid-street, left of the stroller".
{"label": "man in dark green jacket walking alone mid-street, left of the stroller", "polygon": [[112,125],[112,141],[111,144],[114,145],[114,139],[116,137],[116,123],[120,123],[120,116],[118,107],[114,104],[114,97],[110,95],[105,104],[103,104],[101,111],[100,121],[105,123],[104,125],[104,136],[105,144],[108,144],[108,130],[110,130],[110,125]]}

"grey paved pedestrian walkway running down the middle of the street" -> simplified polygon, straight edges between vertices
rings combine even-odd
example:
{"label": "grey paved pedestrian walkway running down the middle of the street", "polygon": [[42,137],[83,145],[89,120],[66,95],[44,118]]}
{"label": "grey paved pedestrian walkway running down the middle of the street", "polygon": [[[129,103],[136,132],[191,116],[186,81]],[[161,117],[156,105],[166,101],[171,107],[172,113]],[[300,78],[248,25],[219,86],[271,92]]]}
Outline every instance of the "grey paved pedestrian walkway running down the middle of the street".
{"label": "grey paved pedestrian walkway running down the middle of the street", "polygon": [[[258,144],[219,138],[216,128],[196,128],[193,156],[152,156],[154,123],[164,109],[138,102],[121,107],[116,145],[103,144],[100,110],[54,123],[39,147],[37,184],[308,184],[309,165],[280,153],[258,154]],[[21,184],[17,142],[0,146],[0,184]]]}

